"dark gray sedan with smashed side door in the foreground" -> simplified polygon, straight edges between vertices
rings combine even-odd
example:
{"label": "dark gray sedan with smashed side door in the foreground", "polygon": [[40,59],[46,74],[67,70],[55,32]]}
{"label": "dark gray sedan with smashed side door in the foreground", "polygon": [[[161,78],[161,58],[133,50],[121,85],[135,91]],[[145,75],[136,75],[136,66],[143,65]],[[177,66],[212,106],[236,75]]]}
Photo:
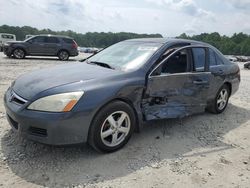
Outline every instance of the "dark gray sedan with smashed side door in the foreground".
{"label": "dark gray sedan with smashed side door in the foreground", "polygon": [[4,96],[13,130],[53,145],[112,152],[144,121],[221,113],[240,70],[216,48],[181,39],[133,39],[84,62],[20,76]]}

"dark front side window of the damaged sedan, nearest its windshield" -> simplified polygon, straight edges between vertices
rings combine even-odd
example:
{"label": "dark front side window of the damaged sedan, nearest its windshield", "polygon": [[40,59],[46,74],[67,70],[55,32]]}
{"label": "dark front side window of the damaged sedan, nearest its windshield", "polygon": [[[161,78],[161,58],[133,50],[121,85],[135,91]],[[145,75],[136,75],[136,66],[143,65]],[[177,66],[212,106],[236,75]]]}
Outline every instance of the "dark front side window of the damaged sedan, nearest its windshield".
{"label": "dark front side window of the damaged sedan, nearest its windshield", "polygon": [[183,73],[188,70],[188,52],[176,52],[162,64],[161,74]]}

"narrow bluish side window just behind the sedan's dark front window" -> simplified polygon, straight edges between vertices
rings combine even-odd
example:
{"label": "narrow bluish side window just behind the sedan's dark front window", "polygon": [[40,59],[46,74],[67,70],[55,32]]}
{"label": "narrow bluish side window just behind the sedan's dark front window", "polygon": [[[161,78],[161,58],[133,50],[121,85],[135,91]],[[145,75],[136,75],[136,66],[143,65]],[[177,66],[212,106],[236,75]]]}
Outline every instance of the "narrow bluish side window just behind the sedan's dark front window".
{"label": "narrow bluish side window just behind the sedan's dark front window", "polygon": [[206,51],[204,48],[193,48],[194,71],[205,71]]}

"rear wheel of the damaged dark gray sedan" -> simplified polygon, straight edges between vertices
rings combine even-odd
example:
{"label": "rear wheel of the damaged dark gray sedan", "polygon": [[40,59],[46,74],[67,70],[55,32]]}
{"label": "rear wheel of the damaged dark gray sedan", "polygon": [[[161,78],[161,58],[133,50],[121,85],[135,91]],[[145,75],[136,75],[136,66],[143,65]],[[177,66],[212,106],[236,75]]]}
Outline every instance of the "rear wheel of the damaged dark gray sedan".
{"label": "rear wheel of the damaged dark gray sedan", "polygon": [[208,111],[214,114],[222,113],[227,107],[229,97],[230,97],[229,87],[224,84],[217,92],[211,107],[208,108]]}

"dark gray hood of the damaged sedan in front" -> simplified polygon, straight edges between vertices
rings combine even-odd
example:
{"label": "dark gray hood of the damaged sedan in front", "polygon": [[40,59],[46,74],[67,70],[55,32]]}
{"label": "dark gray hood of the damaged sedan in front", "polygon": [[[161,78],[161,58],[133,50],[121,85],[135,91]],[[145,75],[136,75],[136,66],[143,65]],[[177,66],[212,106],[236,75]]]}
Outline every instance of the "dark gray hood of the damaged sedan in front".
{"label": "dark gray hood of the damaged sedan in front", "polygon": [[30,100],[38,93],[54,87],[80,81],[103,80],[118,74],[121,74],[118,70],[87,63],[64,64],[20,76],[13,84],[13,90],[21,97]]}

